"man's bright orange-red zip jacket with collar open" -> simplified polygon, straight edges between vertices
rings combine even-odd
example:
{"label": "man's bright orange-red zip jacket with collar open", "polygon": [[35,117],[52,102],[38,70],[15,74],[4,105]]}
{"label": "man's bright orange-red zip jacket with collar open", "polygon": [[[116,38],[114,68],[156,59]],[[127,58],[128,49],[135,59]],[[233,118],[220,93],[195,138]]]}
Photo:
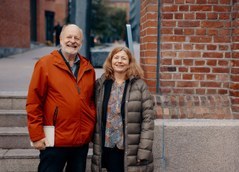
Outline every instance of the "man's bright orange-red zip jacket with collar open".
{"label": "man's bright orange-red zip jacket with collar open", "polygon": [[55,50],[35,65],[27,97],[28,130],[33,142],[45,137],[43,126],[55,125],[55,146],[89,143],[95,126],[95,71],[78,54],[77,79]]}

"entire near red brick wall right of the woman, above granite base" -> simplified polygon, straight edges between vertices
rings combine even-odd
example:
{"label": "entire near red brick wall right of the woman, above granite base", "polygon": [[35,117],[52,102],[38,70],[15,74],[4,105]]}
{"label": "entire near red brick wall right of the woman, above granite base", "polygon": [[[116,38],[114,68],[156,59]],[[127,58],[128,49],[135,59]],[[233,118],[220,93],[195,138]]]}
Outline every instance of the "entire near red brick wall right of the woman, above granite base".
{"label": "entire near red brick wall right of the woman, above granite base", "polygon": [[160,0],[157,9],[158,0],[141,0],[140,61],[153,92],[160,34],[159,118],[239,117],[238,4]]}

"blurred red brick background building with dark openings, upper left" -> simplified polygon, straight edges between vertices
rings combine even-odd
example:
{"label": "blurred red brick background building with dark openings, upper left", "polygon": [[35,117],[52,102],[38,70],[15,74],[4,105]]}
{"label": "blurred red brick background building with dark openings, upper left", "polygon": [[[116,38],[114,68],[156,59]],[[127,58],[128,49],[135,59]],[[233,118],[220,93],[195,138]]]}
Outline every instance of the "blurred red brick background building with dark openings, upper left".
{"label": "blurred red brick background building with dark openings, upper left", "polygon": [[32,43],[54,42],[54,25],[66,23],[68,0],[1,1],[0,57],[22,52]]}

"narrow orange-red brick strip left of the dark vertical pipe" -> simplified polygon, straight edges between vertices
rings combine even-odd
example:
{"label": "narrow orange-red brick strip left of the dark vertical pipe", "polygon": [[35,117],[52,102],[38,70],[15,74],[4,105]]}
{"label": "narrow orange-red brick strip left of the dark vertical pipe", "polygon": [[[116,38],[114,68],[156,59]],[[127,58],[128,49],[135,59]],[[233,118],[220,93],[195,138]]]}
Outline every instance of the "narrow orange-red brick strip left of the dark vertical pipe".
{"label": "narrow orange-red brick strip left of the dark vertical pipe", "polygon": [[140,63],[149,89],[155,92],[158,4],[157,0],[141,0],[140,6]]}

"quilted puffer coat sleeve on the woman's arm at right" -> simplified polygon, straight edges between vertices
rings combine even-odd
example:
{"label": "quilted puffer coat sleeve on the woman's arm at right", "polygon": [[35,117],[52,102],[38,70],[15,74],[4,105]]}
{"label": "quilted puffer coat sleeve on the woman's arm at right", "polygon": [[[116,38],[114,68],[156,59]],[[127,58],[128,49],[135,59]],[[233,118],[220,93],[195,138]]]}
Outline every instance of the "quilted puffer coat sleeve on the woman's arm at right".
{"label": "quilted puffer coat sleeve on the woman's arm at right", "polygon": [[141,93],[142,124],[137,159],[147,161],[152,155],[155,110],[153,97],[149,92],[145,82],[143,82],[141,87]]}

